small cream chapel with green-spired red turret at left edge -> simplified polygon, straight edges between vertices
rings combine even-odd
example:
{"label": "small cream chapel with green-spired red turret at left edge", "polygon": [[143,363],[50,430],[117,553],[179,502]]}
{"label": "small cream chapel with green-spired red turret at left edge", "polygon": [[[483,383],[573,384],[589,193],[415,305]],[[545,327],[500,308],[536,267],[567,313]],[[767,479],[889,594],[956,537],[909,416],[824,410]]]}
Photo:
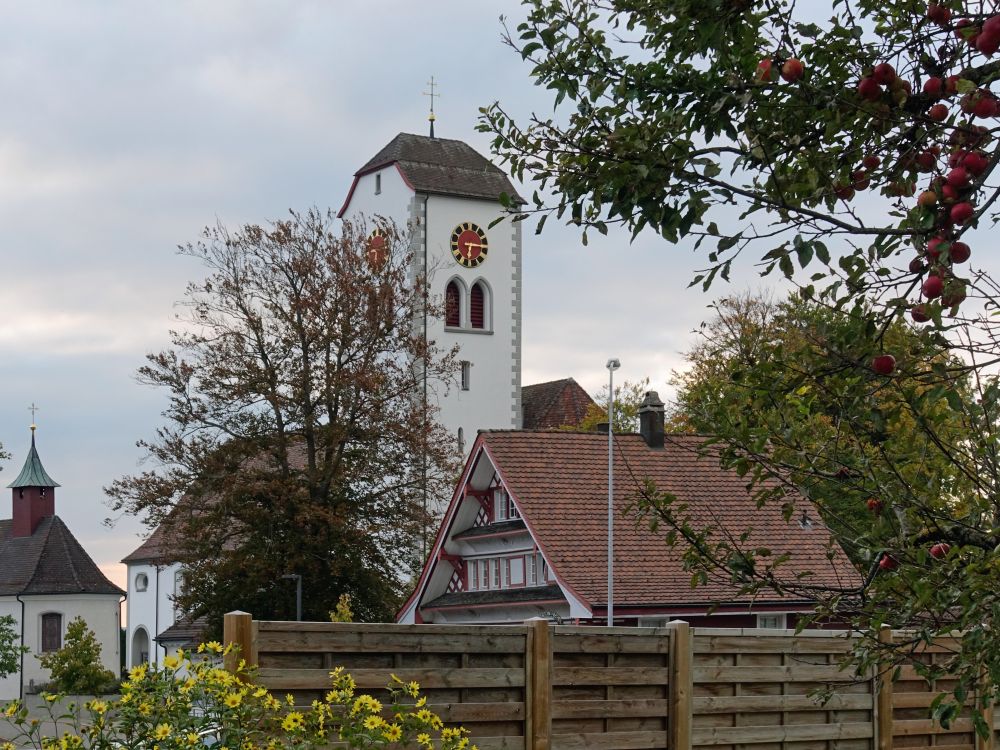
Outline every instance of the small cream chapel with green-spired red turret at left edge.
{"label": "small cream chapel with green-spired red turret at left edge", "polygon": [[105,577],[55,512],[59,484],[35,447],[7,485],[12,513],[0,519],[0,617],[14,618],[18,642],[28,648],[21,668],[0,679],[0,700],[22,697],[48,679],[37,656],[62,648],[66,626],[86,621],[101,645],[101,661],[119,671],[120,604],[125,592]]}

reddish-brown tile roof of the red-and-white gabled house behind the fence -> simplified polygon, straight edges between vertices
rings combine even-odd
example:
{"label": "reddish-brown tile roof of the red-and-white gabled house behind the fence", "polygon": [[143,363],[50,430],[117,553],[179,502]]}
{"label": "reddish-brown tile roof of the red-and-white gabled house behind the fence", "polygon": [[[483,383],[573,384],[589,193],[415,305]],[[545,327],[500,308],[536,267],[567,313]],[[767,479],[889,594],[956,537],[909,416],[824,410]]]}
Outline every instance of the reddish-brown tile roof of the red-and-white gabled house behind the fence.
{"label": "reddish-brown tile roof of the red-and-white gabled house behind the fence", "polygon": [[[518,503],[536,541],[562,581],[591,607],[607,604],[607,436],[583,432],[483,431],[479,439]],[[842,555],[826,555],[829,531],[802,501],[813,527],[797,518],[785,522],[774,504],[758,509],[746,480],[723,471],[718,460],[699,455],[705,438],[668,435],[662,450],[639,435],[616,436],[615,604],[616,607],[736,602],[738,587],[710,582],[691,588],[681,548],[668,547],[664,532],[626,516],[636,483],[652,479],[659,490],[689,504],[696,525],[719,525],[739,534],[753,528],[750,543],[787,552],[786,571],[812,571],[814,584],[849,584],[857,575]],[[473,455],[475,451],[473,451]],[[773,593],[757,603],[785,601]],[[801,601],[801,599],[795,599]]]}

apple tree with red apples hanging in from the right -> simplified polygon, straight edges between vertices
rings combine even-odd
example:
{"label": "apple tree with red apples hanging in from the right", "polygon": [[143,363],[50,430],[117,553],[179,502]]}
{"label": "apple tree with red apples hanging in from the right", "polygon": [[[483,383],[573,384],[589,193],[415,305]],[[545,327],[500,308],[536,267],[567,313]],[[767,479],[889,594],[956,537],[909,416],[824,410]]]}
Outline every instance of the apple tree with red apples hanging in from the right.
{"label": "apple tree with red apples hanging in from the right", "polygon": [[[880,508],[862,551],[869,566],[859,586],[813,594],[870,634],[910,628],[900,649],[962,629],[947,665],[960,677],[956,697],[984,672],[995,692],[1000,284],[977,228],[995,223],[1000,196],[998,8],[529,0],[525,13],[508,42],[551,90],[555,113],[519,122],[497,103],[481,119],[499,157],[537,186],[523,215],[561,217],[584,237],[618,224],[694,245],[705,258],[694,282],[706,289],[746,255],[797,284],[803,300],[847,316],[854,340],[840,342],[833,380],[804,396],[788,390],[794,377],[774,378],[761,394],[798,399],[810,418],[826,408],[817,394],[827,383],[892,394],[888,419],[869,415],[856,428],[879,460],[850,469]],[[919,327],[916,348],[894,337],[904,318]],[[954,387],[956,377],[971,387]],[[916,433],[925,458],[899,446]],[[784,476],[784,461],[767,436],[751,452],[739,450],[738,432],[719,440],[733,448],[727,463],[773,499],[763,488]],[[824,450],[796,460],[833,469],[828,459]],[[915,462],[943,462],[960,481],[918,486],[882,473],[906,476]],[[684,525],[667,498],[650,511]],[[758,580],[773,583],[757,562]],[[885,656],[874,639],[857,654],[861,666]],[[947,720],[959,709],[937,710]]]}

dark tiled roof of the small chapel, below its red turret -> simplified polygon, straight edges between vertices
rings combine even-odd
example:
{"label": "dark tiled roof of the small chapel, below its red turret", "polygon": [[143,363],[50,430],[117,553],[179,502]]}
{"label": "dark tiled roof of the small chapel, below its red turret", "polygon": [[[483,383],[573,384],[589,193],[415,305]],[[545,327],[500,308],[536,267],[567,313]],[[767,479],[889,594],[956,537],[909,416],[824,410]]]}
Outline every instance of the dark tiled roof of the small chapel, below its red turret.
{"label": "dark tiled roof of the small chapel, below its red turret", "polygon": [[117,594],[59,516],[43,518],[31,536],[12,537],[0,520],[0,595]]}

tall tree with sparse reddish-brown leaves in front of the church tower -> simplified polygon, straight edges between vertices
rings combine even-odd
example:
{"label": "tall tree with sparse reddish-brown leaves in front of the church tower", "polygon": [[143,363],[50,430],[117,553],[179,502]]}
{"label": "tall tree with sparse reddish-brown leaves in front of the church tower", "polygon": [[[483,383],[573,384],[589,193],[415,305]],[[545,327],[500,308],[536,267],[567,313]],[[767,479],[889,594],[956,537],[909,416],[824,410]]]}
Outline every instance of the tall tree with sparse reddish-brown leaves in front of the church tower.
{"label": "tall tree with sparse reddish-brown leaves in front of the church tower", "polygon": [[[422,403],[451,352],[425,345],[427,300],[409,242],[330,212],[218,226],[181,253],[188,286],[173,346],[141,382],[169,397],[140,441],[155,466],[108,488],[116,511],[161,525],[185,573],[177,604],[213,627],[232,609],[327,619],[348,594],[362,620],[392,617],[420,556],[455,447]],[[430,314],[437,314],[431,307]]]}

